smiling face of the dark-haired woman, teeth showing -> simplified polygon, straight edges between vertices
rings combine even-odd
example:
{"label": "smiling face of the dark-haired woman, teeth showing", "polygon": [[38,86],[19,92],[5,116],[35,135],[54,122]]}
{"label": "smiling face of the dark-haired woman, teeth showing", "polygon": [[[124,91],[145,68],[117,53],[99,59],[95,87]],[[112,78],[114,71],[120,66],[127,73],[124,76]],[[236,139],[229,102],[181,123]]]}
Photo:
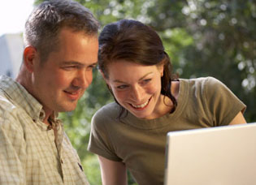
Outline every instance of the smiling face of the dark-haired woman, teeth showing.
{"label": "smiling face of the dark-haired woman, teeth showing", "polygon": [[163,107],[161,76],[163,65],[142,66],[119,60],[107,67],[106,83],[115,99],[137,118],[158,118]]}

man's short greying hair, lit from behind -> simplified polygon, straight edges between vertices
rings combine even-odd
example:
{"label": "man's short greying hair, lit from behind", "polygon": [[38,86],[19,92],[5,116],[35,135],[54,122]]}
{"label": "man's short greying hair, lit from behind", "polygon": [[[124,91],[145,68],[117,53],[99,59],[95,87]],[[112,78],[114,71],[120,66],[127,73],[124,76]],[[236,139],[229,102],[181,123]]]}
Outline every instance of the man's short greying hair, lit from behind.
{"label": "man's short greying hair, lit from behind", "polygon": [[50,0],[35,7],[25,24],[24,45],[33,45],[45,61],[59,49],[59,32],[70,28],[86,35],[98,34],[99,23],[89,9],[72,0]]}

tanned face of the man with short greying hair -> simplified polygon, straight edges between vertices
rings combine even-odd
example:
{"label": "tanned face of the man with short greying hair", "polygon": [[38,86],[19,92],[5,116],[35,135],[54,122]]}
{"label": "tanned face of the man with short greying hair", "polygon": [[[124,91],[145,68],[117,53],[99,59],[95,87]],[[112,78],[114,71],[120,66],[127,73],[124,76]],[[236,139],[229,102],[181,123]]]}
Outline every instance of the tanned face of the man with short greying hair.
{"label": "tanned face of the man with short greying hair", "polygon": [[33,96],[46,113],[71,111],[93,80],[93,67],[98,61],[98,37],[63,28],[59,49],[46,61],[35,62]]}

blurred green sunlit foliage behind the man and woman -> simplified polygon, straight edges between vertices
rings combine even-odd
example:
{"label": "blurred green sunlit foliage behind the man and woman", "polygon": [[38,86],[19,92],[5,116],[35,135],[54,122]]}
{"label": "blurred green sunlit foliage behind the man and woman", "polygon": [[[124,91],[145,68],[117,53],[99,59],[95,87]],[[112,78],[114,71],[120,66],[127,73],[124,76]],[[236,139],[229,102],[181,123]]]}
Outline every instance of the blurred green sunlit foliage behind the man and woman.
{"label": "blurred green sunlit foliage behind the man and woman", "polygon": [[[256,121],[255,0],[77,0],[89,8],[102,27],[119,19],[137,19],[153,27],[180,78],[214,76],[246,105],[247,122]],[[42,2],[36,0],[37,4]],[[87,152],[90,120],[113,101],[101,75],[73,112],[60,114],[92,185],[101,184],[95,155]],[[129,183],[133,182],[129,175]]]}

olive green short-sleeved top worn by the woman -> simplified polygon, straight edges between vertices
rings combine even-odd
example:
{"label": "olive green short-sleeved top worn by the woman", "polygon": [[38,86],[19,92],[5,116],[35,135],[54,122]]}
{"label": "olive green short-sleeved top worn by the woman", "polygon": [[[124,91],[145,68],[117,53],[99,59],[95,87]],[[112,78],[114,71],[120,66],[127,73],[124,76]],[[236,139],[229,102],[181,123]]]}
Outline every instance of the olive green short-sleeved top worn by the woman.
{"label": "olive green short-sleeved top worn by the woman", "polygon": [[93,116],[89,151],[122,161],[140,185],[163,184],[168,131],[228,125],[245,105],[212,77],[180,79],[178,106],[173,114],[154,119],[128,113],[111,103]]}

